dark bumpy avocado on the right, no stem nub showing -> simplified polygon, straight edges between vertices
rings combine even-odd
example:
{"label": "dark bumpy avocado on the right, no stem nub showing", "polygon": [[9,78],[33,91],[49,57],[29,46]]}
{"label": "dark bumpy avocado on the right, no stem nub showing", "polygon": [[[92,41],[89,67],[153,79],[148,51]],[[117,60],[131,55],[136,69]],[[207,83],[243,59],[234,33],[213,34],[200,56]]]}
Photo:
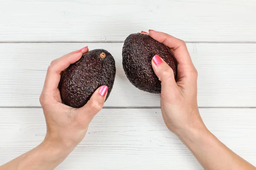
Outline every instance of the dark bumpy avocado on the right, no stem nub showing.
{"label": "dark bumpy avocado on the right, no stem nub showing", "polygon": [[122,65],[129,81],[149,93],[161,93],[161,82],[151,66],[151,59],[158,54],[177,74],[177,62],[166,45],[146,34],[131,34],[122,49]]}

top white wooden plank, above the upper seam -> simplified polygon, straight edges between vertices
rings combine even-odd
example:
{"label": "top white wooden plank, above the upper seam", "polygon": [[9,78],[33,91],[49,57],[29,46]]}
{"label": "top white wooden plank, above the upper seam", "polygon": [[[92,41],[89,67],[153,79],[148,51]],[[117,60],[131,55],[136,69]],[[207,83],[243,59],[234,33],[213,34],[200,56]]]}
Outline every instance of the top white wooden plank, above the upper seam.
{"label": "top white wooden plank, above the upper seam", "polygon": [[1,0],[0,41],[124,41],[154,29],[255,42],[255,8],[255,0]]}

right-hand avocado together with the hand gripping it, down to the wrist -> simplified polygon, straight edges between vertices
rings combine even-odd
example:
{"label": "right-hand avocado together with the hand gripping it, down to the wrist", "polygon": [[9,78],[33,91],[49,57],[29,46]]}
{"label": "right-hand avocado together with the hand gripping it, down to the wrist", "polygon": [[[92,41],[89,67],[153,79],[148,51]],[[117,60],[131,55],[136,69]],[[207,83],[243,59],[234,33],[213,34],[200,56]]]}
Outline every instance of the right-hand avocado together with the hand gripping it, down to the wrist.
{"label": "right-hand avocado together with the hand gripping it, down to the wrist", "polygon": [[186,43],[168,34],[129,35],[122,50],[127,78],[137,88],[161,94],[166,126],[174,133],[204,127],[197,105],[197,71]]}

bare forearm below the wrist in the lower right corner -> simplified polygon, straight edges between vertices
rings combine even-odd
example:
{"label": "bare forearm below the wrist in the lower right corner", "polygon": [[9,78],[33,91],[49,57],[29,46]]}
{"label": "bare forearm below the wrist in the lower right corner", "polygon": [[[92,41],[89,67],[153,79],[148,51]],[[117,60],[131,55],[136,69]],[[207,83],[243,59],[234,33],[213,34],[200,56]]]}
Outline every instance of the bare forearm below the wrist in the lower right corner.
{"label": "bare forearm below the wrist in the lower right corner", "polygon": [[178,135],[206,170],[255,170],[256,168],[221,143],[207,128]]}

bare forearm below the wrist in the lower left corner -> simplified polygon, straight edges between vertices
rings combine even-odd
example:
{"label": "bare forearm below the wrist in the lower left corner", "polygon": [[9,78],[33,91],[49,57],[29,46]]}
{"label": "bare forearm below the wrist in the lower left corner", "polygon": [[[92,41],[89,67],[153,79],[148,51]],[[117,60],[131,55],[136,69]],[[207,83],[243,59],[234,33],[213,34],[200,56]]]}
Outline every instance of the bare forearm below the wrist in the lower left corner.
{"label": "bare forearm below the wrist in the lower left corner", "polygon": [[71,152],[48,142],[40,145],[16,159],[4,164],[0,170],[52,170]]}

